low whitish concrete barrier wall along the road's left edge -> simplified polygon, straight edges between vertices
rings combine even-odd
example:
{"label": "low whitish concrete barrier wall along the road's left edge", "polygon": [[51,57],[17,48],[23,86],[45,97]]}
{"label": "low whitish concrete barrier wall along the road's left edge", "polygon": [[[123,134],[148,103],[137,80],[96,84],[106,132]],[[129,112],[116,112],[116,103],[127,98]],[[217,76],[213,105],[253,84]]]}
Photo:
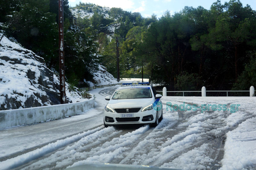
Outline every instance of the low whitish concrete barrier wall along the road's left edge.
{"label": "low whitish concrete barrier wall along the road's left edge", "polygon": [[78,115],[92,107],[94,107],[94,99],[52,106],[1,110],[0,129]]}

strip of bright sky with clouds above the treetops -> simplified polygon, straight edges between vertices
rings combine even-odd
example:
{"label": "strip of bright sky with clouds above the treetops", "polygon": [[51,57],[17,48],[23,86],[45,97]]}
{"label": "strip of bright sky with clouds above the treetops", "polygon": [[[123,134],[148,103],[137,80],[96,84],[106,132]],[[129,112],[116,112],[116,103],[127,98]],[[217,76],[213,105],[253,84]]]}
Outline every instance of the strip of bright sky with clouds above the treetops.
{"label": "strip of bright sky with clouds above the treetops", "polygon": [[[171,12],[179,12],[184,6],[203,6],[210,9],[212,3],[217,0],[68,0],[69,6],[74,7],[79,2],[92,3],[105,7],[122,8],[125,11],[140,12],[142,17],[150,17],[153,13],[160,18],[166,10]],[[224,4],[229,0],[221,0]],[[253,10],[256,10],[256,0],[240,0],[243,6],[249,4]]]}

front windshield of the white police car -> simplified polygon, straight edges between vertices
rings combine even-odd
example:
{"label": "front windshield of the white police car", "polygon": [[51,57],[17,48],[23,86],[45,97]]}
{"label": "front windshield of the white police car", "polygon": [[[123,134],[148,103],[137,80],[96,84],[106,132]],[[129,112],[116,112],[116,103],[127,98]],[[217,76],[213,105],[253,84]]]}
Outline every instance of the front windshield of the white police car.
{"label": "front windshield of the white police car", "polygon": [[150,87],[125,87],[116,90],[112,99],[152,98]]}

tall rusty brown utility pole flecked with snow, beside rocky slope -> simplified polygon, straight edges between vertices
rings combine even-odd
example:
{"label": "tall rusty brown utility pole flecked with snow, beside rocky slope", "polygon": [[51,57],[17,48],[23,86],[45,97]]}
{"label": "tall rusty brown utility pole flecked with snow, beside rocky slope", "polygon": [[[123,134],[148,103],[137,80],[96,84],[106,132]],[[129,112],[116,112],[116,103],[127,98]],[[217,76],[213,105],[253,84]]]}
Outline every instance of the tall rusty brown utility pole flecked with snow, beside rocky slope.
{"label": "tall rusty brown utility pole flecked with snow, beside rocky slope", "polygon": [[63,0],[59,0],[59,69],[60,69],[60,103],[66,102],[65,65],[64,65],[64,10]]}

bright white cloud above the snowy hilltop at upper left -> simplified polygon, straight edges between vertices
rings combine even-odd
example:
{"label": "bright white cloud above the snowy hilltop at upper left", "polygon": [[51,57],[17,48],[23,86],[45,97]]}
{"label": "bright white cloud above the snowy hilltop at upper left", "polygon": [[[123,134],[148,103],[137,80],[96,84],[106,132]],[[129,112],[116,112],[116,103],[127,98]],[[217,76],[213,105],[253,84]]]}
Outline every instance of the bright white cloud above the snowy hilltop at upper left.
{"label": "bright white cloud above the snowy hilltop at upper left", "polygon": [[81,0],[83,3],[92,3],[109,8],[122,8],[123,10],[134,9],[134,0]]}

